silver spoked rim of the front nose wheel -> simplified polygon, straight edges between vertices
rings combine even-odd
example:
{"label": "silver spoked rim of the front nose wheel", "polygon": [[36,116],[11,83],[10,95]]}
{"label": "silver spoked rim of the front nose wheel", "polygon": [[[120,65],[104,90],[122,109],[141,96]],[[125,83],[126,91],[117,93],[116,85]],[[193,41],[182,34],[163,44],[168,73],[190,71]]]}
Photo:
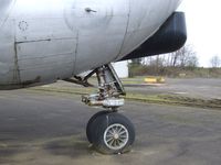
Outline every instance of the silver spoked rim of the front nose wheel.
{"label": "silver spoked rim of the front nose wheel", "polygon": [[129,133],[123,124],[109,125],[104,133],[104,142],[110,150],[120,150],[125,147],[129,140]]}

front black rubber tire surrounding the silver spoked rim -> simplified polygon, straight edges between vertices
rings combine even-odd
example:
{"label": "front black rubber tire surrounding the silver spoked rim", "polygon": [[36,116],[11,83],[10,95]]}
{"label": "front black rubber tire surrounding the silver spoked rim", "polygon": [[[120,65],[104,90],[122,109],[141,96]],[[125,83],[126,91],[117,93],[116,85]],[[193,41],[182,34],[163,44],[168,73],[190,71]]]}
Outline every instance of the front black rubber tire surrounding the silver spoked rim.
{"label": "front black rubber tire surrounding the silver spoked rim", "polygon": [[[104,142],[104,133],[109,125],[116,123],[122,124],[127,129],[129,138],[126,145],[123,148],[112,150]],[[92,133],[93,145],[97,150],[97,152],[103,154],[119,154],[119,153],[123,154],[129,152],[130,146],[135,141],[135,129],[133,123],[126,117],[117,112],[98,116],[93,123],[93,129],[94,129]]]}

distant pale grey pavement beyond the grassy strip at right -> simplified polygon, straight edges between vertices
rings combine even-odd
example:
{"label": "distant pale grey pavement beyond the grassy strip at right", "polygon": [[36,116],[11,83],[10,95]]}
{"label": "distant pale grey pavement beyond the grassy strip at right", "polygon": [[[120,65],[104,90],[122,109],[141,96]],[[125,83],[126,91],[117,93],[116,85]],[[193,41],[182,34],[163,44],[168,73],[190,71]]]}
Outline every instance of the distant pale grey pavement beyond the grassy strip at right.
{"label": "distant pale grey pavement beyond the grassy strip at right", "polygon": [[215,78],[166,78],[166,84],[129,86],[130,92],[147,95],[178,95],[191,98],[221,99],[221,79]]}

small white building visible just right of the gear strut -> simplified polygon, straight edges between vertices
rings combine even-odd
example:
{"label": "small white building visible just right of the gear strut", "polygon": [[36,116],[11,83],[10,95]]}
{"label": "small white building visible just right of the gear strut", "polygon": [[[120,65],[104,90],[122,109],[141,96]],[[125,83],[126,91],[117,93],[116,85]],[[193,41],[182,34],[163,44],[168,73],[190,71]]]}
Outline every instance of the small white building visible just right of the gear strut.
{"label": "small white building visible just right of the gear strut", "polygon": [[129,76],[129,68],[127,61],[113,63],[113,66],[119,78],[127,78]]}

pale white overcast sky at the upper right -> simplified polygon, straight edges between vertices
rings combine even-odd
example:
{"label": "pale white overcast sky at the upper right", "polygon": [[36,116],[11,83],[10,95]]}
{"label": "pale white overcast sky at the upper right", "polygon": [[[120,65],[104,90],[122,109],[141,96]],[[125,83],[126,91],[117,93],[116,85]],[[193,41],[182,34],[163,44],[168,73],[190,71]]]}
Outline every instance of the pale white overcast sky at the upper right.
{"label": "pale white overcast sky at the upper right", "polygon": [[221,58],[221,0],[183,0],[178,9],[186,12],[188,41],[199,65],[210,67],[210,59]]}

